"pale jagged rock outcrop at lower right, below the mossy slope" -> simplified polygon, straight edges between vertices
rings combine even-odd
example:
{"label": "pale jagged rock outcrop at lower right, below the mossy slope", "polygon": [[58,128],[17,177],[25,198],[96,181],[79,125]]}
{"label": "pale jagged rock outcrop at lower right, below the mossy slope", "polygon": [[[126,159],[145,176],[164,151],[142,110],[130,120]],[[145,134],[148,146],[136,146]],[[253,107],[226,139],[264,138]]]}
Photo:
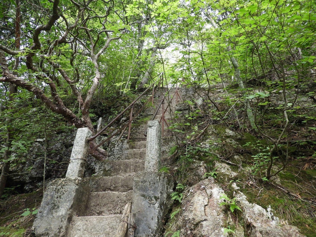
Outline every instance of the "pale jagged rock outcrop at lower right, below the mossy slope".
{"label": "pale jagged rock outcrop at lower right, below the mossy slope", "polygon": [[234,196],[238,201],[238,205],[242,209],[242,217],[245,222],[245,233],[249,237],[304,237],[299,233],[295,226],[290,226],[273,213],[268,208],[264,208],[257,204],[251,204],[247,201],[247,197],[238,191],[239,187],[233,183],[235,189]]}

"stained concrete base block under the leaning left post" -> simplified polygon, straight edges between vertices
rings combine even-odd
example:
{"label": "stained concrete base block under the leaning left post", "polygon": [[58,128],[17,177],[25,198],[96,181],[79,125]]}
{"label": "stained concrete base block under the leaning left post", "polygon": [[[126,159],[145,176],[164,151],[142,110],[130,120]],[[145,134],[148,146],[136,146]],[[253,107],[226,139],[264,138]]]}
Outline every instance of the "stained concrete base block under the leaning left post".
{"label": "stained concrete base block under the leaning left post", "polygon": [[73,216],[81,216],[87,208],[88,179],[55,179],[45,194],[33,223],[36,237],[64,237]]}

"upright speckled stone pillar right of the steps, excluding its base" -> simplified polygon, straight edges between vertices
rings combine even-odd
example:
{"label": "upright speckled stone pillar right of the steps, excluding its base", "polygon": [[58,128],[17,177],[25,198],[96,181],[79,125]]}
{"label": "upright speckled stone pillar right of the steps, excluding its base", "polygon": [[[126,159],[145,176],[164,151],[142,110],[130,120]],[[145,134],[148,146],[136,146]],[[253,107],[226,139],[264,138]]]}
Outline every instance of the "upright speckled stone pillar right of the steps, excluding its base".
{"label": "upright speckled stone pillar right of the steps, excluding its base", "polygon": [[161,125],[157,120],[147,125],[145,172],[158,172],[161,165]]}

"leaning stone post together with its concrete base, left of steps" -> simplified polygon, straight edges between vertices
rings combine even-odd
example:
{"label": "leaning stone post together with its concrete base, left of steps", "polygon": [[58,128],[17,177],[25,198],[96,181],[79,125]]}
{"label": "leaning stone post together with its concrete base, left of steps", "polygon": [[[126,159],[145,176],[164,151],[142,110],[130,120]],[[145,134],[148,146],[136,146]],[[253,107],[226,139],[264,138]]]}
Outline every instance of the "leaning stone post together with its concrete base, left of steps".
{"label": "leaning stone post together with its concrete base, left of steps", "polygon": [[33,223],[36,237],[65,237],[72,217],[85,213],[90,187],[83,174],[89,151],[87,138],[91,136],[88,128],[78,129],[66,178],[47,185]]}

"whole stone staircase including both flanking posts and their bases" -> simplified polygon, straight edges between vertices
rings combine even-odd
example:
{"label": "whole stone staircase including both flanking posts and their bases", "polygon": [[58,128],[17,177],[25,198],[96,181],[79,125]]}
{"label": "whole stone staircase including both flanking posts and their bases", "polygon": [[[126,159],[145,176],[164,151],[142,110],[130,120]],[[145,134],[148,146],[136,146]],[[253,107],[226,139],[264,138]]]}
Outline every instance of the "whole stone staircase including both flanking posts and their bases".
{"label": "whole stone staircase including both flanking posts and their bases", "polygon": [[[157,93],[155,108],[148,108],[143,116],[152,118],[162,98],[162,94]],[[172,100],[171,110],[176,109],[176,101]],[[170,108],[165,114],[167,120],[173,117],[169,111]],[[155,120],[160,118],[161,109]],[[162,150],[161,126],[157,121],[150,122],[147,142],[144,132],[148,124],[146,120],[143,124],[132,125],[129,143],[127,139],[117,141],[114,137],[108,159],[94,162],[93,177],[83,177],[89,151],[87,138],[92,133],[88,128],[78,129],[66,178],[54,180],[46,189],[33,223],[35,236],[114,237],[129,202],[132,202],[131,212],[136,213],[135,235],[160,235],[164,216],[171,206],[173,178],[158,172]],[[168,153],[167,150],[163,152]]]}

